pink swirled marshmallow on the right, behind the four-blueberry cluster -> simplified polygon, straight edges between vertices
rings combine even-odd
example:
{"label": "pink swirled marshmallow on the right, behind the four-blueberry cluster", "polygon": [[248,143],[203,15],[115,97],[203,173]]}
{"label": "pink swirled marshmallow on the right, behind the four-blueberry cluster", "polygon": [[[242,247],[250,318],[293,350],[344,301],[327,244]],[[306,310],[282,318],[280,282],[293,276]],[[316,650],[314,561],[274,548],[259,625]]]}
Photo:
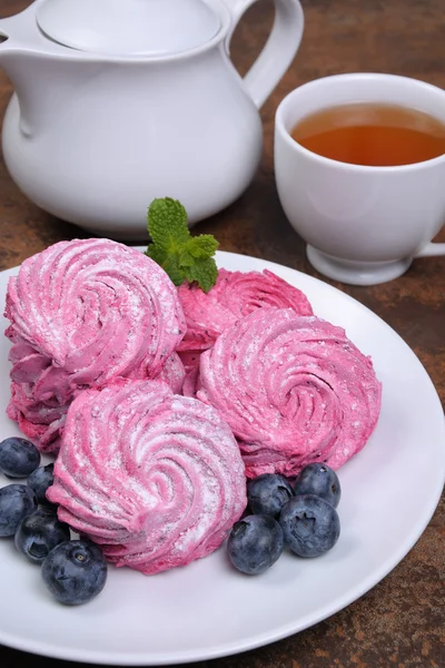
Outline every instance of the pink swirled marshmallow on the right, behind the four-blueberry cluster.
{"label": "pink swirled marshmallow on the right, behind the four-blueberry cluster", "polygon": [[258,310],[200,357],[198,399],[230,424],[249,478],[338,468],[373,432],[380,383],[344,330],[287,308]]}

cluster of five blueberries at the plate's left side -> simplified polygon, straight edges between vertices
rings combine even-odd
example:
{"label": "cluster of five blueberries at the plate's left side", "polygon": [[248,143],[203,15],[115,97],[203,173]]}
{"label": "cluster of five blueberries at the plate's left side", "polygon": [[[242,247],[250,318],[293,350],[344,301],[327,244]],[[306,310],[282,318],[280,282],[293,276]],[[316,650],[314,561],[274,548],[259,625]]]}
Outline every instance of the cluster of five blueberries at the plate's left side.
{"label": "cluster of five blueberries at the plate's left side", "polygon": [[40,453],[26,439],[12,436],[0,443],[0,471],[10,479],[27,478],[27,484],[0,489],[0,538],[13,537],[19,552],[41,564],[48,590],[66,605],[85,603],[96,597],[107,580],[107,562],[89,541],[70,540],[68,524],[46,493],[53,481],[53,464],[40,466]]}

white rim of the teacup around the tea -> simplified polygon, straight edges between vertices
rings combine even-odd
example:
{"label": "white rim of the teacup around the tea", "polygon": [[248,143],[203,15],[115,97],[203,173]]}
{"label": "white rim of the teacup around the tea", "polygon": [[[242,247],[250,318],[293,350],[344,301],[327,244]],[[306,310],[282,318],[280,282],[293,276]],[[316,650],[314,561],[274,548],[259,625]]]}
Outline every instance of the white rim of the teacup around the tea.
{"label": "white rim of the teacup around the tea", "polygon": [[[327,158],[325,156],[320,156],[293,139],[289,131],[285,127],[283,115],[287,107],[291,104],[291,98],[296,95],[296,92],[301,91],[303,89],[313,88],[315,86],[319,86],[323,81],[333,81],[333,80],[375,80],[375,79],[385,79],[386,81],[393,80],[404,80],[411,81],[414,85],[423,88],[424,90],[435,91],[435,94],[439,92],[444,96],[445,101],[445,90],[435,86],[434,84],[428,84],[427,81],[423,81],[422,79],[415,79],[414,77],[406,77],[404,75],[393,75],[386,72],[345,72],[337,75],[328,75],[326,77],[318,77],[317,79],[312,79],[310,81],[306,81],[300,86],[297,86],[293,90],[290,90],[279,102],[276,114],[275,114],[275,134],[280,134],[281,138],[286,141],[286,144],[291,147],[293,150],[297,150],[306,157],[315,160],[318,164],[325,166],[335,166],[337,169],[343,168],[345,170],[353,170],[362,174],[377,174],[377,173],[399,173],[399,171],[413,171],[413,170],[424,170],[431,167],[434,167],[443,161],[445,161],[445,154],[442,156],[437,156],[436,158],[431,158],[429,160],[423,160],[422,163],[409,163],[408,165],[392,165],[392,166],[375,166],[375,165],[356,165],[354,163],[343,163],[340,160],[335,160],[333,158]],[[276,138],[275,138],[276,141]]]}

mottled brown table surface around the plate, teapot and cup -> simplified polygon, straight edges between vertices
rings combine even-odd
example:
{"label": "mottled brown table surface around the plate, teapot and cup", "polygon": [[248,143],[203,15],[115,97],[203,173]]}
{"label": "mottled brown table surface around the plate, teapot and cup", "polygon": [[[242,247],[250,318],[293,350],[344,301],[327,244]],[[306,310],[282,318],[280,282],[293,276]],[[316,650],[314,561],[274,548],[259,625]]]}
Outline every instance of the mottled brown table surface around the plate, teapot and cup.
{"label": "mottled brown table surface around the plate, teapot and cup", "polygon": [[[29,0],[1,0],[0,17],[17,13],[28,4]],[[215,234],[224,250],[264,257],[317,275],[276,194],[273,127],[277,105],[305,81],[349,71],[406,75],[445,88],[445,4],[444,0],[304,0],[304,9],[306,28],[299,52],[261,110],[265,149],[256,178],[236,204],[196,229]],[[241,73],[264,42],[271,16],[271,2],[263,0],[247,12],[238,28],[233,56]],[[1,118],[11,90],[0,70]],[[0,230],[0,269],[60,239],[86,236],[30,204],[1,161]],[[445,242],[444,229],[437,240]],[[405,276],[384,285],[330,283],[372,308],[402,335],[431,374],[444,403],[445,257],[415,261]],[[444,668],[444,538],[443,500],[408,556],[358,601],[286,640],[199,666]],[[32,655],[0,647],[1,668],[30,668],[37,660]],[[69,664],[44,659],[43,665],[63,668]]]}

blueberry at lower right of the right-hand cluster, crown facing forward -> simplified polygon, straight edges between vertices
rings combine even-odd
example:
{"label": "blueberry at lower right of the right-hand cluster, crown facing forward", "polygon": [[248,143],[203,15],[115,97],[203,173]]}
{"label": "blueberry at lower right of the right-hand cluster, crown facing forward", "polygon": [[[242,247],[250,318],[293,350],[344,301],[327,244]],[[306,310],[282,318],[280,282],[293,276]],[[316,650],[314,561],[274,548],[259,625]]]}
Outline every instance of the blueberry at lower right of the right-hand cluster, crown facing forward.
{"label": "blueberry at lower right of the right-hand cluster, crown facing forward", "polygon": [[340,521],[334,505],[315,494],[294,497],[281,510],[285,541],[298,557],[320,557],[335,546]]}

